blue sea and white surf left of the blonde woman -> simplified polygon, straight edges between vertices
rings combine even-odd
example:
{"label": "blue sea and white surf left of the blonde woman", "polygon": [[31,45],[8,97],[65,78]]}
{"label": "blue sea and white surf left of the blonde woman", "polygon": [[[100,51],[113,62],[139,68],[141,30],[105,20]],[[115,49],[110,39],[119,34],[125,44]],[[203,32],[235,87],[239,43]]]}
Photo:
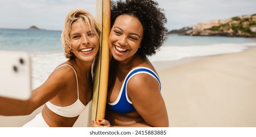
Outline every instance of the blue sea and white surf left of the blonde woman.
{"label": "blue sea and white surf left of the blonde woman", "polygon": [[67,59],[64,57],[62,31],[0,29],[0,50],[26,51],[32,60],[32,89],[40,86],[50,73]]}

